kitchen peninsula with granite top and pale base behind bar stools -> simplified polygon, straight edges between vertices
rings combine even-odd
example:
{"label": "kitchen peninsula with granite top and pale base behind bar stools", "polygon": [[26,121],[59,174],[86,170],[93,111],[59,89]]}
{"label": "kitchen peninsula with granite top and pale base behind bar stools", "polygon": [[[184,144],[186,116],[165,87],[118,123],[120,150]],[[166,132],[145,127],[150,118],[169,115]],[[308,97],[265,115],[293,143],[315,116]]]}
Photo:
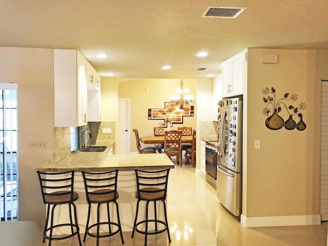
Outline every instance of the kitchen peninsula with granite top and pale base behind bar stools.
{"label": "kitchen peninsula with granite top and pale base behind bar stools", "polygon": [[[34,169],[34,171],[43,172],[75,170],[74,191],[78,193],[79,198],[74,203],[77,208],[78,225],[81,233],[84,233],[85,231],[88,203],[83,177],[80,171],[103,172],[118,169],[117,191],[119,192],[119,198],[117,199],[117,202],[120,212],[121,227],[122,231],[132,231],[137,201],[135,198],[136,178],[134,169],[159,170],[174,168],[174,164],[166,154],[112,155],[106,154],[107,152],[108,150],[105,150],[104,152],[71,152],[65,155],[60,155],[60,157],[58,156],[54,160],[48,160]],[[112,206],[112,204],[110,206]],[[58,210],[60,210],[57,211],[59,217],[55,218],[55,223],[67,219],[67,206],[58,206]],[[113,211],[115,210],[111,207],[111,217]],[[116,218],[114,215],[115,213],[113,213],[113,218]],[[90,223],[93,223],[94,221],[92,220],[96,218],[96,207],[91,209],[91,214]],[[100,220],[106,219],[107,213],[103,213],[103,215],[104,217],[100,216]],[[67,228],[67,230],[69,230],[69,228]],[[54,234],[68,233],[69,232],[65,230],[54,231]]]}

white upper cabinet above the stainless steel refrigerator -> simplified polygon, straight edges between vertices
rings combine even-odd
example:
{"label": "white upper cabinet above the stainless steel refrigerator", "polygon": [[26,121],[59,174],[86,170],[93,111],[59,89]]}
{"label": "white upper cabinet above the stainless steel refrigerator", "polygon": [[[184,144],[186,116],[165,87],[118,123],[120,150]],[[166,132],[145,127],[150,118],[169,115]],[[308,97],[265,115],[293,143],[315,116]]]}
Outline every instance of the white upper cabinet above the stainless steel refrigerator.
{"label": "white upper cabinet above the stainless steel refrigerator", "polygon": [[222,97],[230,97],[243,94],[243,64],[245,52],[229,58],[222,63]]}

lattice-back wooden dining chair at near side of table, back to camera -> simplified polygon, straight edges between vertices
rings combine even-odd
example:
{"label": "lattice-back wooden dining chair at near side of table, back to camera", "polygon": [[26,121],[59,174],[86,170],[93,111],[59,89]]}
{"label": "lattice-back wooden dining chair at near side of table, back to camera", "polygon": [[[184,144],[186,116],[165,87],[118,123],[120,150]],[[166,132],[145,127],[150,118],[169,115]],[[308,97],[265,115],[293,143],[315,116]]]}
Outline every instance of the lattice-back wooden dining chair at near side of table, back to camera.
{"label": "lattice-back wooden dining chair at near side of table, back to camera", "polygon": [[182,167],[181,136],[182,133],[180,131],[166,131],[164,134],[164,148],[161,150],[161,152],[167,154],[170,159],[172,156],[176,156],[176,162],[180,164],[180,167]]}

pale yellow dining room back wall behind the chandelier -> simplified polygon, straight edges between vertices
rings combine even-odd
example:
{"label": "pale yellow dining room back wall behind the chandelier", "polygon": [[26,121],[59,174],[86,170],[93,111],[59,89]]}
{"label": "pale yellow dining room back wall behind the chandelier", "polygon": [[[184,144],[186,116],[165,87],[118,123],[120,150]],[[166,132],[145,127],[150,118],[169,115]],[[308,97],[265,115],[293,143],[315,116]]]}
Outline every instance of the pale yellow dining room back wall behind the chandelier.
{"label": "pale yellow dining room back wall behind the chandelier", "polygon": [[[146,92],[148,88],[148,92]],[[130,151],[137,152],[135,135],[132,129],[136,128],[139,137],[154,134],[154,127],[163,120],[148,120],[148,109],[162,109],[164,103],[170,101],[170,95],[175,94],[176,88],[180,88],[180,79],[131,79],[118,84],[120,98],[130,98]],[[183,88],[189,88],[189,94],[196,97],[197,80],[183,79]],[[196,105],[196,99],[195,105]],[[196,130],[196,106],[193,117],[183,117],[183,124],[173,124],[168,130],[176,130],[177,127],[188,126]]]}

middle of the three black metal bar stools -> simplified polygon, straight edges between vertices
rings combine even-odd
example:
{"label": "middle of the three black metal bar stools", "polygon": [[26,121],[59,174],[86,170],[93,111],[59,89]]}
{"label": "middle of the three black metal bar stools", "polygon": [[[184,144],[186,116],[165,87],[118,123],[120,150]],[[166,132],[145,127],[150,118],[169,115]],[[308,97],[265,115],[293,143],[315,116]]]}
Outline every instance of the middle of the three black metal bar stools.
{"label": "middle of the three black metal bar stools", "polygon": [[[118,198],[119,194],[117,192],[117,174],[118,169],[114,171],[109,172],[81,172],[83,175],[84,185],[86,189],[86,195],[87,195],[87,201],[89,204],[88,209],[88,219],[86,224],[86,232],[83,238],[83,241],[86,241],[87,234],[91,237],[97,238],[97,246],[99,244],[99,238],[103,237],[110,237],[115,235],[116,233],[120,233],[122,244],[124,244],[123,235],[122,235],[122,229],[121,224],[119,220],[119,212],[118,212],[118,204],[116,199]],[[116,205],[116,213],[117,213],[117,223],[111,222],[110,219],[110,213],[109,213],[109,203],[114,202]],[[94,224],[91,224],[89,226],[90,221],[90,212],[91,212],[91,204],[96,203],[97,206],[97,222]],[[107,204],[107,216],[108,221],[106,222],[100,222],[100,204],[106,203]],[[101,224],[107,224],[109,232],[105,235],[99,235],[99,228]],[[112,231],[111,226],[115,226],[117,230]],[[90,229],[96,227],[97,233],[92,234],[90,232]]]}

